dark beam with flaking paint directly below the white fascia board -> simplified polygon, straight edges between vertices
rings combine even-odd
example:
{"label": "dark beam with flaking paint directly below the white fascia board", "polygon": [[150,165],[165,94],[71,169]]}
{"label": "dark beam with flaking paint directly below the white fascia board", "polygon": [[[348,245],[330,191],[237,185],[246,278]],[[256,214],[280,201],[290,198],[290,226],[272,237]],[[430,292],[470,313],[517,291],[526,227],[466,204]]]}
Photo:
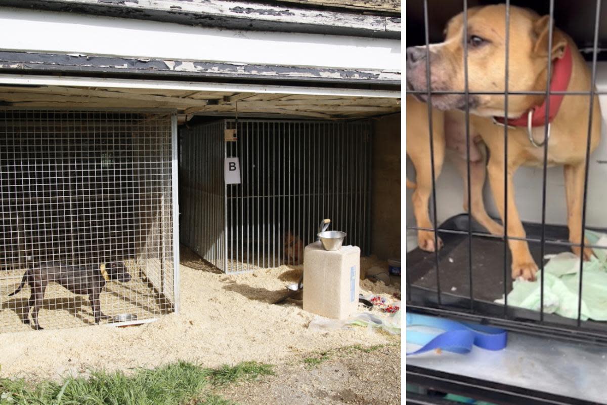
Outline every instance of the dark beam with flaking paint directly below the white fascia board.
{"label": "dark beam with flaking paint directly below the white fascia board", "polygon": [[321,69],[312,67],[262,66],[199,61],[147,60],[94,55],[0,52],[2,70],[84,69],[98,72],[188,74],[215,78],[266,78],[273,80],[344,81],[348,83],[399,84],[401,73],[378,70]]}

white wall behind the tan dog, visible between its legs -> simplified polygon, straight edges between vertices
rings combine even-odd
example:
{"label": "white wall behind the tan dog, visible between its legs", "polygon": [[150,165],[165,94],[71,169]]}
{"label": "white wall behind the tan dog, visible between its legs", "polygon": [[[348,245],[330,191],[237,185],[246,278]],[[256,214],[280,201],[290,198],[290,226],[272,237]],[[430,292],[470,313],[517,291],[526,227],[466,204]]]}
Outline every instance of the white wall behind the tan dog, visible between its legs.
{"label": "white wall behind the tan dog, visible between its legs", "polygon": [[[607,91],[607,63],[597,63],[597,89]],[[599,97],[602,120],[602,139],[600,145],[591,154],[588,175],[588,205],[586,208],[586,226],[607,228],[607,95]],[[580,122],[584,131],[588,131],[586,122]],[[514,175],[515,198],[521,219],[528,222],[541,222],[542,168],[521,167]],[[546,223],[566,225],[567,208],[565,201],[565,179],[563,167],[548,168],[546,177]],[[407,176],[415,179],[415,171],[407,160]],[[463,182],[455,167],[445,162],[443,172],[436,182],[436,212],[441,223],[451,216],[463,213]],[[493,203],[493,197],[486,182],[484,199],[490,216],[499,217]],[[411,204],[411,191],[407,190],[407,225],[415,223]],[[414,233],[408,233],[407,250],[415,247]]]}

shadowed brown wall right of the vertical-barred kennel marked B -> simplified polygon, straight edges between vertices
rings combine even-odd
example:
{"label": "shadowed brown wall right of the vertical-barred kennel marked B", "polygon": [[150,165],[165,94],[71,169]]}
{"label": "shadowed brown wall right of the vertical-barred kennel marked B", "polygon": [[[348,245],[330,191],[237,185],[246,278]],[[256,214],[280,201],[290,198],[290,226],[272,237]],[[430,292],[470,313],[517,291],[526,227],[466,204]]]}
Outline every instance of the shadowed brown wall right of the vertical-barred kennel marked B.
{"label": "shadowed brown wall right of the vertical-barred kennel marked B", "polygon": [[371,253],[401,257],[401,115],[375,122],[371,179]]}

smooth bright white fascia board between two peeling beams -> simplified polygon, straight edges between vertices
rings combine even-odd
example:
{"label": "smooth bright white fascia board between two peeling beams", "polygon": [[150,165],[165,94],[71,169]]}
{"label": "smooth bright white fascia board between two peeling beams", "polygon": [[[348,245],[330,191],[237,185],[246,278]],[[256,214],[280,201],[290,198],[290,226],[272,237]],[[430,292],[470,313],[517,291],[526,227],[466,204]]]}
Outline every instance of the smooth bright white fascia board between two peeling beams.
{"label": "smooth bright white fascia board between two peeling beams", "polygon": [[0,49],[401,71],[396,39],[255,32],[0,7]]}

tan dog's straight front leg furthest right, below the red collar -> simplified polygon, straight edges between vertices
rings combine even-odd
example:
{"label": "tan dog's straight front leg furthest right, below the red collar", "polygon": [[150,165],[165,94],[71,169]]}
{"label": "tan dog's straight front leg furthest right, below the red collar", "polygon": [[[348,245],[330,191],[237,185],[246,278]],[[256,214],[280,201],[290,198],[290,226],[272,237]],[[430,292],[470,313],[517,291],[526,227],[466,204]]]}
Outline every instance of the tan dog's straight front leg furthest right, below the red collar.
{"label": "tan dog's straight front leg furthest right, below the red collar", "polygon": [[[567,199],[567,225],[569,227],[569,242],[575,245],[582,243],[582,207],[584,204],[584,173],[585,162],[577,165],[565,165],[565,195]],[[584,238],[584,260],[590,260],[592,248],[589,248],[588,239]],[[572,246],[571,250],[580,256],[579,246]]]}

